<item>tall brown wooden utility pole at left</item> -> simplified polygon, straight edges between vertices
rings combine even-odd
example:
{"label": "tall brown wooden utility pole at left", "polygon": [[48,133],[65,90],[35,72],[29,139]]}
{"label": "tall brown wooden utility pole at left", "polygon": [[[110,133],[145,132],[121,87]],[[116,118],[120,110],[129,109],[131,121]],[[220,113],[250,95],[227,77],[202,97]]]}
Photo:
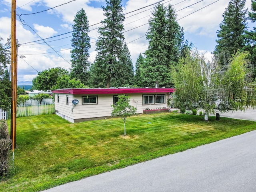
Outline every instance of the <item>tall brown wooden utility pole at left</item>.
{"label": "tall brown wooden utility pole at left", "polygon": [[17,112],[17,40],[16,40],[16,0],[12,0],[12,24],[11,24],[11,42],[12,42],[12,104],[11,104],[11,139],[12,152],[16,148],[16,112]]}

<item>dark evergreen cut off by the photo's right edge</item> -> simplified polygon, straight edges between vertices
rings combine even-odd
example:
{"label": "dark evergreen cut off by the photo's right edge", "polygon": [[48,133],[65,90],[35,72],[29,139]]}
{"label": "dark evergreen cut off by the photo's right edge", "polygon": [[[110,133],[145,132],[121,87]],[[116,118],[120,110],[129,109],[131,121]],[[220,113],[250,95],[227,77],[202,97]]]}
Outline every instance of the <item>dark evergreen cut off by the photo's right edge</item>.
{"label": "dark evergreen cut off by the photo's right edge", "polygon": [[[249,12],[249,19],[254,23],[256,21],[256,0],[252,0],[252,12]],[[246,46],[244,48],[250,52],[250,61],[253,64],[252,78],[256,79],[256,27],[246,32]]]}

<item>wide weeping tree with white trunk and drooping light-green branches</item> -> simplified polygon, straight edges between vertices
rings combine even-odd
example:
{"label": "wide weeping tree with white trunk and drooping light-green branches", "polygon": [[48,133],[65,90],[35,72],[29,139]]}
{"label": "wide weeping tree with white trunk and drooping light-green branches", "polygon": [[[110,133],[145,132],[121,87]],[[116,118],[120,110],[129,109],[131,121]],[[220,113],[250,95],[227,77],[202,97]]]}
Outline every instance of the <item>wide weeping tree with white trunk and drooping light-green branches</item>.
{"label": "wide weeping tree with white trunk and drooping light-green branches", "polygon": [[248,52],[238,52],[223,66],[217,56],[205,62],[204,56],[197,51],[187,54],[172,70],[176,105],[204,109],[205,120],[208,120],[208,113],[214,112],[216,102],[222,106],[220,112],[256,106],[255,83],[251,82],[248,56]]}

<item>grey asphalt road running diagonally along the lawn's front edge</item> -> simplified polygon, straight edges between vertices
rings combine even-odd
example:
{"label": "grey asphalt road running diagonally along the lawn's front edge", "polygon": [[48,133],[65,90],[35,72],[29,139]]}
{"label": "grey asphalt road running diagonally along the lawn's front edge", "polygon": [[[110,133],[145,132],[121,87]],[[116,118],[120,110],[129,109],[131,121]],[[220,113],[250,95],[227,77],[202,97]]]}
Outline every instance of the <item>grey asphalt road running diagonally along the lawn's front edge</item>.
{"label": "grey asphalt road running diagonally along the lawn's front edge", "polygon": [[256,130],[45,192],[255,192]]}

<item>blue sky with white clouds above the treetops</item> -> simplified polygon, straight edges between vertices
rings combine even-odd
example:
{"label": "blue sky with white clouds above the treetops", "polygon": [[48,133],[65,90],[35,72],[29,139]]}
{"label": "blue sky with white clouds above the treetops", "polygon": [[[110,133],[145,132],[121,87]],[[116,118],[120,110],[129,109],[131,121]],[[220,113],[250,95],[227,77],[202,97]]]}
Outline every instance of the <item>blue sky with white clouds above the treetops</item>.
{"label": "blue sky with white clouds above the treetops", "polygon": [[[0,36],[4,38],[2,40],[2,43],[4,43],[11,34],[11,0],[0,1]],[[101,6],[106,5],[104,0],[70,1],[17,0],[17,14],[21,15],[21,19],[19,16],[16,18],[16,36],[21,44],[18,54],[26,56],[26,58],[18,59],[18,84],[24,81],[31,82],[38,71],[57,66],[66,69],[70,68],[70,50],[72,48],[70,40],[72,33],[68,32],[72,31],[74,16],[78,10],[84,8],[88,16],[89,25],[104,20],[101,9]],[[124,13],[128,13],[159,1],[123,0],[122,6]],[[168,4],[174,6],[178,23],[184,28],[185,39],[192,42],[195,48],[204,52],[207,57],[210,57],[210,52],[216,46],[216,31],[219,29],[223,19],[222,14],[225,8],[227,8],[228,2],[229,0],[164,0],[160,3],[163,3],[165,6]],[[59,6],[61,4],[64,5]],[[50,9],[55,6],[58,7]],[[148,41],[144,35],[148,30],[147,22],[153,8],[154,5],[125,15],[124,31],[127,32],[124,32],[124,36],[134,65],[138,55],[145,52],[148,48]],[[247,0],[246,8],[251,11],[250,0]],[[32,14],[47,9],[50,10]],[[96,28],[99,26],[100,24],[89,28],[92,46],[89,58],[91,62],[96,57],[95,42],[98,38]],[[248,26],[253,26],[253,24],[248,22]],[[50,38],[57,35],[60,36]],[[49,38],[45,40],[47,44],[42,40],[37,41],[40,38]]]}

